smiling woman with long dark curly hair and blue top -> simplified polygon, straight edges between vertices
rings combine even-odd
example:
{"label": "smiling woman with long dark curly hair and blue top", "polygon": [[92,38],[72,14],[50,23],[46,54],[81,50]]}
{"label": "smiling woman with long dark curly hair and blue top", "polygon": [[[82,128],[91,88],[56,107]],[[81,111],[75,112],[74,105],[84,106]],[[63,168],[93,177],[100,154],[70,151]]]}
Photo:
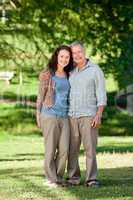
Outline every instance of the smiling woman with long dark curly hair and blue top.
{"label": "smiling woman with long dark curly hair and blue top", "polygon": [[45,141],[46,184],[63,184],[69,151],[68,96],[69,72],[73,69],[70,47],[62,45],[53,53],[47,70],[39,76],[36,119]]}

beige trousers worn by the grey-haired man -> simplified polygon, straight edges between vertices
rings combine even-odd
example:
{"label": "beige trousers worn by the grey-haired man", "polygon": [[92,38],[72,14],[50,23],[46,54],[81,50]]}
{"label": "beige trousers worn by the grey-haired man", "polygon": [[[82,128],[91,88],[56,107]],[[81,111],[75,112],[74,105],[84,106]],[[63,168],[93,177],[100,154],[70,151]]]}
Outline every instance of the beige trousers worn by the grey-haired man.
{"label": "beige trousers worn by the grey-haired man", "polygon": [[91,117],[70,117],[70,147],[68,157],[68,176],[73,182],[80,182],[78,163],[81,141],[86,155],[86,181],[97,176],[96,145],[98,130],[91,127]]}

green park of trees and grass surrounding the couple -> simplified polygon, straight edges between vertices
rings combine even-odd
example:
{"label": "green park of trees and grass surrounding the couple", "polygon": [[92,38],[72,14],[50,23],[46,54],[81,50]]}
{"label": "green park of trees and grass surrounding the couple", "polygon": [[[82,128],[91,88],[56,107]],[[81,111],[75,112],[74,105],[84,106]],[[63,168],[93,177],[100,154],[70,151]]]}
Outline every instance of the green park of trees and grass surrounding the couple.
{"label": "green park of trees and grass surrounding the couple", "polygon": [[[35,122],[39,72],[60,44],[80,40],[103,69],[108,106],[97,147],[99,189],[43,186],[44,147]],[[130,0],[0,0],[0,200],[132,200],[133,116],[116,96],[133,83]],[[85,157],[80,151],[82,184]]]}

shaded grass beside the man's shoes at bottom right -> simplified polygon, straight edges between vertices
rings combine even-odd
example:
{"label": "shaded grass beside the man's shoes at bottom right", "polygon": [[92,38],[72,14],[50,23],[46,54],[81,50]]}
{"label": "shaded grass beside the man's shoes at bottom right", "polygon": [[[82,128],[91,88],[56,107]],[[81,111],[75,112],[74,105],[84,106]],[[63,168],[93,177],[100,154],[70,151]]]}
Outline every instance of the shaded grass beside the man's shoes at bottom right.
{"label": "shaded grass beside the man's shoes at bottom right", "polygon": [[[133,197],[133,168],[100,169],[100,188],[71,189],[71,193],[79,199],[117,199]],[[83,176],[82,172],[82,176]],[[84,180],[84,179],[83,179]],[[82,180],[82,184],[84,183]],[[123,198],[124,199],[124,198]]]}

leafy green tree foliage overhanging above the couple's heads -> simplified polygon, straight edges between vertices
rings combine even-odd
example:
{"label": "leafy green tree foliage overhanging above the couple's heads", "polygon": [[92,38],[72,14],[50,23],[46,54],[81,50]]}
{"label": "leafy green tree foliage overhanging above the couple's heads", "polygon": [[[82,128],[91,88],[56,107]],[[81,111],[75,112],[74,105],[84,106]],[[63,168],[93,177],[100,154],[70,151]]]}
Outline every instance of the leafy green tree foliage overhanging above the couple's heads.
{"label": "leafy green tree foliage overhanging above the couple's heads", "polygon": [[[17,38],[21,35],[25,44],[28,41],[34,46],[31,60],[36,62],[30,64],[29,60],[27,66],[41,66],[47,61],[47,50],[51,52],[59,44],[82,40],[87,47],[91,45],[91,55],[99,54],[99,63],[105,73],[113,73],[120,88],[132,82],[132,1],[8,0],[7,4],[11,7],[11,15],[6,25],[0,24],[0,33]],[[19,38],[19,41],[22,39]],[[4,44],[3,47],[2,44],[0,42],[1,52],[6,58],[10,55],[11,60],[16,61],[16,58],[13,58],[10,49],[17,57],[16,51],[23,52],[25,56],[19,58],[23,65],[27,48],[18,50],[15,45]]]}

